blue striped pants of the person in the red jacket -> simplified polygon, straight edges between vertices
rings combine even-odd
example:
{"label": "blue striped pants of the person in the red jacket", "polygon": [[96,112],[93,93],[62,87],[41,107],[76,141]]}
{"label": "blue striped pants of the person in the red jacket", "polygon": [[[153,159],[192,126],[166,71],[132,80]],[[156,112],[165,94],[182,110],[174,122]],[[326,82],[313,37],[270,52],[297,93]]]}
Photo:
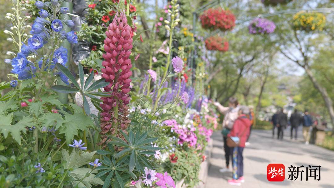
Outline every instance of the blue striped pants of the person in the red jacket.
{"label": "blue striped pants of the person in the red jacket", "polygon": [[231,148],[232,154],[232,167],[233,167],[233,179],[237,180],[243,176],[243,148],[235,147]]}

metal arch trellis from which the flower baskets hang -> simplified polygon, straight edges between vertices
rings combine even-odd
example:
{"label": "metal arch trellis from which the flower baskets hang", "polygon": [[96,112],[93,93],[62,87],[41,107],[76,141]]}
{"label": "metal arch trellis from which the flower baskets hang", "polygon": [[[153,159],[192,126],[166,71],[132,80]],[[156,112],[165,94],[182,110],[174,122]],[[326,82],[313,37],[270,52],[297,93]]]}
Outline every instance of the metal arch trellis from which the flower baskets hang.
{"label": "metal arch trellis from which the flower baskets hang", "polygon": [[[214,7],[218,4],[220,4],[220,6],[222,6],[222,3],[225,2],[225,1],[226,0],[211,1],[207,4],[202,5],[201,7],[199,7],[198,9],[196,9],[193,12],[193,29],[192,29],[192,31],[193,31],[194,34],[196,32],[196,22],[197,22],[197,19],[198,19],[198,14],[207,10],[207,9],[209,9],[209,8],[211,8],[211,7]],[[297,12],[300,12],[300,11],[316,11],[316,12],[320,12],[320,13],[334,13],[334,8],[287,9],[287,10],[276,11],[274,13],[259,14],[255,17],[247,18],[247,19],[244,19],[244,20],[241,20],[241,21],[236,21],[236,24],[242,24],[244,22],[253,20],[257,17],[271,17],[271,16],[280,15],[280,14],[294,14],[294,13],[297,13]],[[215,35],[219,32],[220,32],[219,30],[213,31],[209,35],[205,36],[204,38],[213,36],[213,35]],[[193,50],[192,55],[191,55],[190,68],[194,68],[194,64],[195,64],[194,55],[195,55],[195,51]]]}

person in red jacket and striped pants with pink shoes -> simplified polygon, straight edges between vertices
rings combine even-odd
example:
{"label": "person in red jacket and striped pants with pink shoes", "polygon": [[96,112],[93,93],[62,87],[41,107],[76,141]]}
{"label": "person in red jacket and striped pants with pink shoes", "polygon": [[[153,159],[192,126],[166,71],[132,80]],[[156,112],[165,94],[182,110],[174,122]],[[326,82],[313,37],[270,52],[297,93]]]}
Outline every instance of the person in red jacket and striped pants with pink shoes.
{"label": "person in red jacket and striped pants with pink shoes", "polygon": [[231,132],[227,135],[228,137],[234,137],[234,139],[239,140],[239,146],[231,148],[233,179],[228,180],[228,183],[231,185],[241,185],[241,183],[245,181],[243,178],[242,151],[245,147],[245,142],[248,138],[251,127],[251,121],[247,118],[247,114],[249,114],[249,108],[241,106],[238,112],[239,116],[235,120]]}

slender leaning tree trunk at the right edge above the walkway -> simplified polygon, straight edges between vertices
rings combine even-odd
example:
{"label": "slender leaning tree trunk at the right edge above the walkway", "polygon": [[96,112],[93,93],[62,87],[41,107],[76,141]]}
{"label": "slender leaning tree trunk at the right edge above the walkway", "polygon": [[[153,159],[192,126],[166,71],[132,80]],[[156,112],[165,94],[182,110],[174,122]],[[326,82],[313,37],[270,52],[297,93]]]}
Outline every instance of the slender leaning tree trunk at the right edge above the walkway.
{"label": "slender leaning tree trunk at the right edge above the walkway", "polygon": [[307,76],[310,78],[310,80],[312,81],[314,87],[316,89],[318,89],[318,91],[321,93],[321,96],[322,98],[324,99],[325,101],[325,105],[328,109],[328,113],[329,113],[329,116],[331,118],[331,123],[332,123],[332,132],[334,133],[334,108],[333,108],[333,101],[332,99],[329,97],[328,93],[327,93],[327,90],[322,87],[318,82],[317,80],[315,79],[312,71],[308,68],[308,66],[305,66],[304,67],[304,70],[307,74]]}

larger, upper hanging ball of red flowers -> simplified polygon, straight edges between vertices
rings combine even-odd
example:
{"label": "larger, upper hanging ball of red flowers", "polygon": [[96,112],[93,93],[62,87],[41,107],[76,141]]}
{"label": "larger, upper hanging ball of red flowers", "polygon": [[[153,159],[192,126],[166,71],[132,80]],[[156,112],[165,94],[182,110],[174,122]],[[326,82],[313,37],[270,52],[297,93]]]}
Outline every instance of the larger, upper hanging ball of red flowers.
{"label": "larger, upper hanging ball of red flowers", "polygon": [[234,14],[222,8],[210,8],[200,16],[200,19],[204,29],[226,31],[232,29],[235,25]]}

